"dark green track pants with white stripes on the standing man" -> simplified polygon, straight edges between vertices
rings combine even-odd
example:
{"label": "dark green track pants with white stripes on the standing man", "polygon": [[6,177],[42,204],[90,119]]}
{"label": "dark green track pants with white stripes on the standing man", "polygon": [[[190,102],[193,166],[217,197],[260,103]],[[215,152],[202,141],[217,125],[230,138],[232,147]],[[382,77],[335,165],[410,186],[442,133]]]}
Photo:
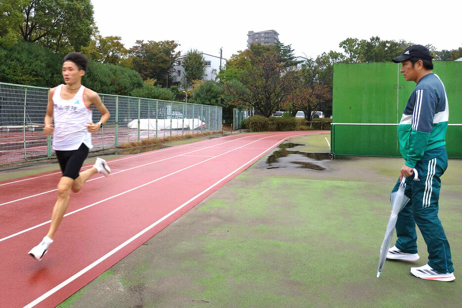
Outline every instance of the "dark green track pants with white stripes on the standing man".
{"label": "dark green track pants with white stripes on the standing man", "polygon": [[[448,154],[444,146],[425,152],[416,164],[419,181],[413,180],[414,176],[406,179],[405,195],[411,200],[396,222],[396,247],[406,253],[417,253],[417,224],[427,244],[428,265],[442,273],[454,272],[449,242],[438,218],[440,176],[447,167]],[[398,179],[392,192],[398,190],[399,183]]]}

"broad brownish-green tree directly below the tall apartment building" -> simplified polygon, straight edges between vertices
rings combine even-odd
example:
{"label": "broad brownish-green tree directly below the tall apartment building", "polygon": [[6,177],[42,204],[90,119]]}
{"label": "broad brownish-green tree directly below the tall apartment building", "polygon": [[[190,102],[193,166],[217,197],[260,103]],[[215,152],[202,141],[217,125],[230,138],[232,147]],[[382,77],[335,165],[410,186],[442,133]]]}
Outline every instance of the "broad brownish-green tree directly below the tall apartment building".
{"label": "broad brownish-green tree directly below the tall apartment building", "polygon": [[[224,87],[226,97],[233,103],[253,107],[269,117],[296,88],[299,77],[284,66],[274,48],[264,47],[252,44],[235,57],[230,66],[236,63],[235,69],[241,71],[236,79],[225,78]],[[226,77],[226,72],[223,75]]]}

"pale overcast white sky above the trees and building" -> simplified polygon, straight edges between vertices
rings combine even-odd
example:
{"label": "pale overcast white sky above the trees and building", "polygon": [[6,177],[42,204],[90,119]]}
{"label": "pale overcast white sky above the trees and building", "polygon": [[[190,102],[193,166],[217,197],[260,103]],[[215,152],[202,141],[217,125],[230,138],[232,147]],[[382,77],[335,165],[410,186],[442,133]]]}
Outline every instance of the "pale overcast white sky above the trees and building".
{"label": "pale overcast white sky above the trees and building", "polygon": [[248,31],[265,30],[276,30],[279,41],[291,44],[296,56],[313,58],[343,51],[339,43],[350,37],[432,44],[437,50],[462,47],[460,0],[91,2],[100,34],[120,36],[126,48],[137,40],[173,40],[182,54],[197,49],[220,56],[223,48],[223,57],[229,59],[247,48]]}

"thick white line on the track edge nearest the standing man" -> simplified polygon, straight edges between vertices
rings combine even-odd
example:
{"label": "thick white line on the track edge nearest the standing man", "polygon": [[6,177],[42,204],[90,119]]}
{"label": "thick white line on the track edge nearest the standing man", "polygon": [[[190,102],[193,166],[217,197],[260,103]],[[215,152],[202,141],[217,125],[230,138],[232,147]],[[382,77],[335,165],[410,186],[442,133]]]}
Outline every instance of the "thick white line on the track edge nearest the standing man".
{"label": "thick white line on the track edge nearest the standing man", "polygon": [[[164,217],[162,217],[161,219],[155,221],[153,224],[151,224],[150,226],[146,227],[145,229],[141,230],[139,233],[135,234],[134,236],[132,236],[130,239],[128,239],[127,241],[123,242],[122,244],[120,244],[119,246],[117,246],[116,248],[114,248],[113,250],[111,250],[110,252],[108,252],[107,254],[105,254],[104,256],[102,256],[101,258],[99,258],[98,260],[96,260],[95,262],[93,262],[92,264],[88,265],[87,267],[83,268],[82,270],[80,270],[79,272],[75,273],[74,275],[72,275],[71,277],[67,278],[66,280],[64,280],[63,282],[61,282],[60,284],[58,284],[57,286],[55,286],[54,288],[52,288],[51,290],[49,290],[48,292],[46,292],[45,294],[43,294],[42,296],[38,297],[37,299],[35,299],[34,301],[30,302],[29,304],[27,304],[26,306],[24,306],[24,308],[31,308],[31,307],[34,307],[35,305],[39,304],[40,302],[42,302],[43,300],[45,300],[46,298],[48,298],[49,296],[51,296],[53,293],[55,293],[56,291],[59,291],[60,289],[62,289],[63,287],[65,287],[66,285],[68,285],[69,283],[71,283],[72,281],[76,280],[77,278],[79,278],[80,276],[82,276],[83,274],[85,274],[86,272],[88,272],[89,270],[91,270],[93,267],[95,267],[96,265],[100,264],[101,262],[103,262],[104,260],[106,260],[107,258],[109,258],[110,256],[114,255],[116,252],[118,252],[119,250],[121,250],[122,248],[124,248],[125,246],[127,246],[128,244],[130,244],[131,242],[133,242],[134,240],[136,240],[137,238],[139,238],[141,235],[143,235],[144,233],[146,233],[147,231],[149,231],[150,229],[152,229],[153,227],[155,227],[156,225],[158,225],[159,223],[161,223],[162,221],[166,220],[167,218],[169,218],[170,216],[172,216],[173,214],[175,214],[176,212],[178,212],[179,210],[181,210],[182,208],[184,208],[187,204],[191,203],[192,201],[194,201],[195,199],[197,199],[198,197],[200,197],[201,195],[203,195],[204,193],[206,193],[207,191],[209,191],[210,189],[212,189],[213,187],[217,186],[218,184],[220,184],[222,181],[224,181],[225,179],[227,179],[228,177],[230,177],[231,175],[233,175],[234,173],[238,172],[240,169],[244,168],[246,165],[252,163],[252,161],[254,161],[255,159],[258,159],[259,157],[261,157],[262,155],[265,155],[265,153],[269,150],[271,150],[273,147],[275,147],[277,144],[279,144],[280,142],[284,141],[285,139],[288,139],[292,136],[288,136],[284,139],[282,139],[281,141],[278,141],[277,143],[275,143],[274,145],[272,145],[271,147],[267,148],[265,151],[263,151],[262,153],[258,154],[257,156],[255,156],[254,158],[252,158],[251,160],[249,160],[248,162],[246,162],[245,164],[241,165],[240,167],[238,167],[237,169],[235,169],[233,172],[231,172],[230,174],[228,174],[227,176],[224,176],[222,177],[220,180],[218,180],[217,182],[215,182],[213,185],[207,187],[206,189],[202,190],[200,193],[198,193],[197,195],[195,195],[194,197],[192,197],[191,199],[189,199],[188,201],[186,201],[185,203],[183,203],[182,205],[180,205],[178,208],[176,208],[175,210],[173,210],[172,212],[168,213],[167,215],[165,215]],[[258,140],[257,140],[258,141]],[[254,141],[255,142],[255,141]],[[224,153],[225,154],[225,153]],[[220,154],[220,155],[223,155],[223,154]],[[218,157],[218,156],[217,156]]]}

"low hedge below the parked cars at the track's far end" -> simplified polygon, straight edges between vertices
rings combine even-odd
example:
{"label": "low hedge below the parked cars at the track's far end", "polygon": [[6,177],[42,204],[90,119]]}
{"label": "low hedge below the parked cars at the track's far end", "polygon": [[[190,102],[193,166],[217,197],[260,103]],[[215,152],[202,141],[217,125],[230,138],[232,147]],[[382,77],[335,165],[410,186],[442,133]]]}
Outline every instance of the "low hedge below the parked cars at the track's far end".
{"label": "low hedge below the parked cars at the track's far end", "polygon": [[259,115],[245,119],[242,128],[250,132],[284,132],[284,131],[307,131],[322,130],[329,131],[332,119],[312,119],[308,122],[305,119],[293,117],[269,117]]}

